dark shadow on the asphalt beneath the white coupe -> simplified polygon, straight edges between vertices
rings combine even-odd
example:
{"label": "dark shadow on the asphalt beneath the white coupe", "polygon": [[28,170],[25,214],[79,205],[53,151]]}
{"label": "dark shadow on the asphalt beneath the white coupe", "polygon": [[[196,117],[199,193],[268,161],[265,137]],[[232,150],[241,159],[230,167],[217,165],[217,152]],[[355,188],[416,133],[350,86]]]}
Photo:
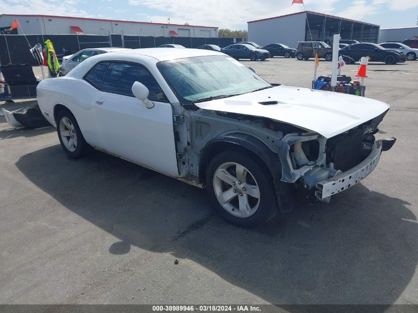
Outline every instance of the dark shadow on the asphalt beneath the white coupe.
{"label": "dark shadow on the asphalt beneath the white coupe", "polygon": [[299,203],[244,229],[214,214],[204,190],[101,152],[77,161],[64,155],[54,145],[16,166],[68,210],[118,237],[106,248],[114,255],[132,246],[171,253],[278,305],[392,304],[417,267],[410,203],[362,184],[330,204]]}

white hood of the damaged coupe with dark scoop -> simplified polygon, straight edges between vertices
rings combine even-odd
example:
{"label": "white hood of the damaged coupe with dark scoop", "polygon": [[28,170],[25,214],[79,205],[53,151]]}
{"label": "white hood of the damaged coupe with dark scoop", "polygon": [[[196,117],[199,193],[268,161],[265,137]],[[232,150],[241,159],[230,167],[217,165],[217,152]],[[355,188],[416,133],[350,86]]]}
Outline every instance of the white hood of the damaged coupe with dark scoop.
{"label": "white hood of the damaged coupe with dark scoop", "polygon": [[[277,101],[263,105],[259,102]],[[201,109],[267,117],[326,138],[382,114],[389,105],[338,92],[279,86],[229,98],[196,103]]]}

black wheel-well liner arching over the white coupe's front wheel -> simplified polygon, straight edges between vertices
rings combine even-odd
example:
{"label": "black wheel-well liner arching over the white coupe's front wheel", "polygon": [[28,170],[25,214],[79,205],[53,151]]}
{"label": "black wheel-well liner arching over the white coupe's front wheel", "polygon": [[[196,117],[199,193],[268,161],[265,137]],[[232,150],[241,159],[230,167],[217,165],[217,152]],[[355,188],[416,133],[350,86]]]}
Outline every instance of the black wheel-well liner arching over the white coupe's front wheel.
{"label": "black wheel-well liner arching over the white coupe's front wheel", "polygon": [[251,156],[252,158],[259,160],[262,164],[269,170],[267,164],[253,151],[248,148],[245,148],[237,143],[228,142],[228,141],[218,141],[211,144],[208,151],[204,151],[202,158],[199,164],[199,180],[203,183],[206,181],[206,168],[209,162],[220,152],[224,151],[236,151],[245,153],[246,155]]}

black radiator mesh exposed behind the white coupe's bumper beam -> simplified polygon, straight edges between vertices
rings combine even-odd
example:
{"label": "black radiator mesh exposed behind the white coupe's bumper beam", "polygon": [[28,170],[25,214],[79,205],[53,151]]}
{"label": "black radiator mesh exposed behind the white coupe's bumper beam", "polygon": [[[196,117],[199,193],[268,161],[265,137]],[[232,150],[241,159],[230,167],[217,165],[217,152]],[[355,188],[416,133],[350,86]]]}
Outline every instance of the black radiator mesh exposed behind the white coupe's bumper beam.
{"label": "black radiator mesh exposed behind the white coupe's bumper beam", "polygon": [[363,129],[356,129],[330,138],[326,144],[327,163],[334,163],[334,169],[343,172],[358,165],[362,161],[363,134]]}

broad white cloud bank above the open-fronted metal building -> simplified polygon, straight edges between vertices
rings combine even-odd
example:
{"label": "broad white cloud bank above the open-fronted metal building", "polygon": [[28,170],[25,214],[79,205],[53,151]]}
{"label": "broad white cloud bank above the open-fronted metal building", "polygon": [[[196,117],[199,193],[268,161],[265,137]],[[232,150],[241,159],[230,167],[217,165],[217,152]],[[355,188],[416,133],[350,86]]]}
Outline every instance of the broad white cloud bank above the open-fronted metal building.
{"label": "broad white cloud bank above the open-fronted metal building", "polygon": [[[418,0],[304,0],[310,11],[361,20],[377,13],[408,10],[418,7]],[[157,16],[147,16],[153,22],[244,28],[250,20],[298,12],[303,5],[291,5],[291,0],[128,0],[130,5],[158,10]],[[336,9],[339,7],[340,9]],[[341,10],[341,7],[346,9]],[[161,13],[166,13],[163,16]]]}

